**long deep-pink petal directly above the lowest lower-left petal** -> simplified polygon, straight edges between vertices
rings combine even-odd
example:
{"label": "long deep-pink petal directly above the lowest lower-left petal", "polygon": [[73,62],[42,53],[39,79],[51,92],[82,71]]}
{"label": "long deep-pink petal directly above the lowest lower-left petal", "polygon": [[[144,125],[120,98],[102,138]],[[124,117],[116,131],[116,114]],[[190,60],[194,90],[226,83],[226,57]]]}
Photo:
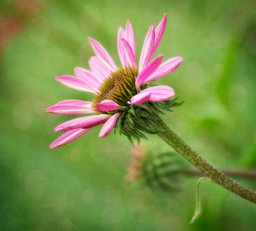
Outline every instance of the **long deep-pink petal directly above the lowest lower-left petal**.
{"label": "long deep-pink petal directly above the lowest lower-left petal", "polygon": [[108,120],[111,115],[91,115],[69,120],[60,124],[53,131],[68,131],[76,128],[92,128]]}

